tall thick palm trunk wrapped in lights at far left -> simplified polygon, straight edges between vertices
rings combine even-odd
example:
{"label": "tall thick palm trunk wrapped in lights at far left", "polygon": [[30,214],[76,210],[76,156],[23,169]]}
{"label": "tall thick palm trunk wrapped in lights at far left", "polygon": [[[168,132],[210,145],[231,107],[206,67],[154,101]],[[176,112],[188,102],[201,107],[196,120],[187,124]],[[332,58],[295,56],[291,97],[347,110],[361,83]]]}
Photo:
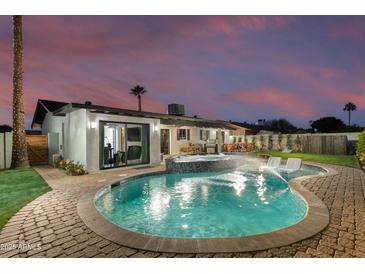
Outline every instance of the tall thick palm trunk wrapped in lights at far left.
{"label": "tall thick palm trunk wrapped in lights at far left", "polygon": [[24,126],[22,16],[13,16],[13,149],[11,166],[29,166]]}

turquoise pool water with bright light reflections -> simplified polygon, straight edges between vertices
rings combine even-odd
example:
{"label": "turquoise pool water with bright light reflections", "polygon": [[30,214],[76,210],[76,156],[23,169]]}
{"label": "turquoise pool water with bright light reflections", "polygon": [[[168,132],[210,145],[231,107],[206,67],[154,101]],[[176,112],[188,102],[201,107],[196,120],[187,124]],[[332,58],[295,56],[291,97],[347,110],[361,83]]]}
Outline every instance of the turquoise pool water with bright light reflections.
{"label": "turquoise pool water with bright light reflections", "polygon": [[249,236],[302,220],[307,206],[286,180],[320,172],[306,166],[280,178],[243,166],[224,172],[149,175],[99,193],[95,205],[112,223],[143,234]]}

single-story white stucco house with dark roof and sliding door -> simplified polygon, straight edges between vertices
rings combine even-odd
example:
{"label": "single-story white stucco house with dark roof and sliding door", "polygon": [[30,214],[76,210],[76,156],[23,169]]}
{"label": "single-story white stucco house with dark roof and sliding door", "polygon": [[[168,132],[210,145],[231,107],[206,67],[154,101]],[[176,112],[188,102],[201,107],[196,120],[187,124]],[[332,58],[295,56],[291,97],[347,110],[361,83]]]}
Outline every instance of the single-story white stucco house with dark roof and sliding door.
{"label": "single-story white stucco house with dark roof and sliding door", "polygon": [[230,131],[242,133],[226,121],[185,116],[181,105],[162,114],[50,100],[38,100],[32,128],[48,135],[50,162],[59,154],[90,171],[159,164],[163,155],[220,152]]}

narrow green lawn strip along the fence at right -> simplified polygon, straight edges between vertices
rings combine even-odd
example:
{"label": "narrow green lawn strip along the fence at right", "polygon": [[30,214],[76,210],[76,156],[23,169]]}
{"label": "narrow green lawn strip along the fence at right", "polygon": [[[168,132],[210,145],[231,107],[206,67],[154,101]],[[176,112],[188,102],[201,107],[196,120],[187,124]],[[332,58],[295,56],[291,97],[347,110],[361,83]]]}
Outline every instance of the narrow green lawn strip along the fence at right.
{"label": "narrow green lawn strip along the fence at right", "polygon": [[310,154],[310,153],[284,153],[277,150],[270,150],[259,154],[269,154],[271,156],[287,158],[301,158],[304,161],[334,164],[341,166],[349,166],[357,168],[357,160],[354,155],[326,155],[326,154]]}

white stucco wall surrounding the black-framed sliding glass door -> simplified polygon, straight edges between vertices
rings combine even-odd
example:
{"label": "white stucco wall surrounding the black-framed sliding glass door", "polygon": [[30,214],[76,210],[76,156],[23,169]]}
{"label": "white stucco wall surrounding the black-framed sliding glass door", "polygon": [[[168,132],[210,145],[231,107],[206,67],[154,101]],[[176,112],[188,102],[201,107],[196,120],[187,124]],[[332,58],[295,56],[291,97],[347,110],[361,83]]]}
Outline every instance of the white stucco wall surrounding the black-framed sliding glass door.
{"label": "white stucco wall surrounding the black-framed sliding glass door", "polygon": [[[86,119],[86,162],[90,171],[98,170],[100,163],[100,121],[124,122],[149,124],[150,126],[150,164],[159,164],[161,161],[160,152],[160,121],[158,119],[118,116],[100,113],[87,112]],[[91,128],[91,123],[95,123],[95,128]]]}

